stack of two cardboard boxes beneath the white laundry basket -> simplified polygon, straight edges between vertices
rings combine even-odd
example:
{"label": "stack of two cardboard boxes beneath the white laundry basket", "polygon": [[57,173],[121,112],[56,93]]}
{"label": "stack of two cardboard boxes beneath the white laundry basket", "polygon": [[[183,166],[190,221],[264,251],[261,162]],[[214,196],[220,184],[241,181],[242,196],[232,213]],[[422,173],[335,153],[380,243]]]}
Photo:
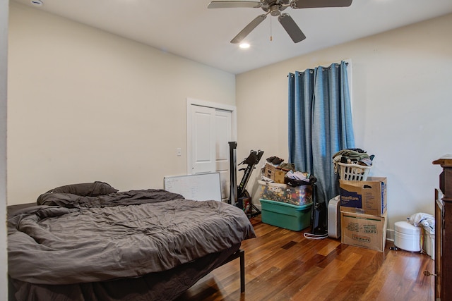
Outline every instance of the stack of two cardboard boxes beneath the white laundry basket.
{"label": "stack of two cardboard boxes beneath the white laundry basket", "polygon": [[384,251],[387,227],[386,178],[340,180],[341,242]]}

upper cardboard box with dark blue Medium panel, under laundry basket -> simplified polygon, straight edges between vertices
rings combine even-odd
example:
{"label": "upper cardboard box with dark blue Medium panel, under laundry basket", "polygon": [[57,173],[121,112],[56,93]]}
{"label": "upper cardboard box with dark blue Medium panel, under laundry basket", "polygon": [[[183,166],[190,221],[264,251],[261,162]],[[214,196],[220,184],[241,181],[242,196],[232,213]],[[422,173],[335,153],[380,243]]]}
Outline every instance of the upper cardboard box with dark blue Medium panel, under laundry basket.
{"label": "upper cardboard box with dark blue Medium panel, under laundry basket", "polygon": [[388,202],[386,178],[369,177],[365,181],[340,180],[340,210],[383,216]]}

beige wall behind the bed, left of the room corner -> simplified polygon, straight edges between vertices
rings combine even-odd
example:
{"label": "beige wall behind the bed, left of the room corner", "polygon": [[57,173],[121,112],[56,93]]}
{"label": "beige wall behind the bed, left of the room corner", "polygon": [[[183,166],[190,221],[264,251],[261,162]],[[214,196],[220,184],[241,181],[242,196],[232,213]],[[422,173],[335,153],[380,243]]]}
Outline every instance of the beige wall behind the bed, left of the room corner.
{"label": "beige wall behind the bed, left of the room corner", "polygon": [[[235,75],[11,1],[8,204],[186,174],[186,97],[235,105]],[[182,156],[176,149],[182,148]]]}

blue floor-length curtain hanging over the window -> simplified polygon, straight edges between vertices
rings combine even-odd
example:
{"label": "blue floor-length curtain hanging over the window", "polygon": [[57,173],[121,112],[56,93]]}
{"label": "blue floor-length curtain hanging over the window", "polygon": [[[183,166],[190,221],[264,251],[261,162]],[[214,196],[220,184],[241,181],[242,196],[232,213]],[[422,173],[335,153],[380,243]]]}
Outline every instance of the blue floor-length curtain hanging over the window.
{"label": "blue floor-length curtain hanging over the window", "polygon": [[289,161],[317,178],[317,202],[339,194],[333,154],[355,148],[347,63],[289,73]]}

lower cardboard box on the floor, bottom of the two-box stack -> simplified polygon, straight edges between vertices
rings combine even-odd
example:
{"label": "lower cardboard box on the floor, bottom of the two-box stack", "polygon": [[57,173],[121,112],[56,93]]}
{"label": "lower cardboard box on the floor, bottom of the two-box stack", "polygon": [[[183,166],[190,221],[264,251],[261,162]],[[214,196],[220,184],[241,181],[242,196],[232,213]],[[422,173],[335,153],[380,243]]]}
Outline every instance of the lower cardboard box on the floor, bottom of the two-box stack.
{"label": "lower cardboard box on the floor, bottom of the two-box stack", "polygon": [[340,242],[383,252],[387,224],[386,214],[374,216],[340,211]]}

